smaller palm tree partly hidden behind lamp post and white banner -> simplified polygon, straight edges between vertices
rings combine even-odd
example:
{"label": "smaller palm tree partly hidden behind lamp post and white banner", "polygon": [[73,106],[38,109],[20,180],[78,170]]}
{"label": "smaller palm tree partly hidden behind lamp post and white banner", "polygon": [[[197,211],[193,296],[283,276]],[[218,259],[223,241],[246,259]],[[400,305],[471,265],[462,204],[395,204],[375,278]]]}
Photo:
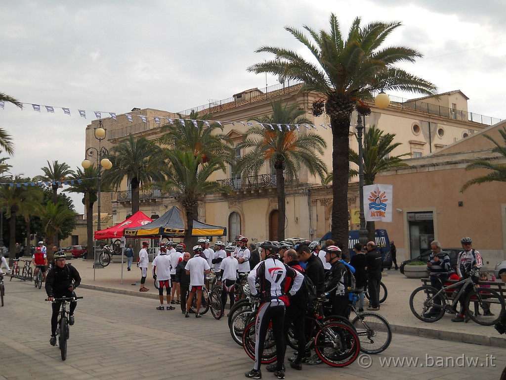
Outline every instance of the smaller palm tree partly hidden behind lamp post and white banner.
{"label": "smaller palm tree partly hidden behind lamp post and white banner", "polygon": [[[402,161],[401,157],[409,155],[404,153],[399,156],[390,156],[392,151],[399,145],[400,142],[394,143],[395,133],[387,133],[383,135],[381,129],[377,129],[375,126],[371,126],[364,135],[363,142],[363,167],[364,167],[364,185],[374,184],[376,174],[382,170],[391,168],[400,168],[407,166]],[[350,150],[350,162],[355,165],[359,165],[358,153],[354,150]],[[358,175],[358,170],[350,169],[351,176]],[[369,241],[375,240],[375,223],[374,221],[367,222],[367,238]]]}

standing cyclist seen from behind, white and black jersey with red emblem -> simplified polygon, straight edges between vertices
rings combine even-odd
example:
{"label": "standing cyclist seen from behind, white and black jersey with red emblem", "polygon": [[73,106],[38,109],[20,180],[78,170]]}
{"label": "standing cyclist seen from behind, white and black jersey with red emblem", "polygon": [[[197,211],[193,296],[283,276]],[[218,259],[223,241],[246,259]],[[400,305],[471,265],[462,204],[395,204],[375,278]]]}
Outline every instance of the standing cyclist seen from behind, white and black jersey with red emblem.
{"label": "standing cyclist seen from behind, white and black jersey with red emblem", "polygon": [[[304,275],[288,267],[283,262],[275,258],[279,250],[279,244],[266,240],[260,245],[260,255],[263,261],[258,263],[255,268],[249,272],[248,285],[251,295],[260,298],[258,308],[255,341],[255,365],[253,369],[245,373],[249,378],[262,378],[260,370],[260,358],[264,351],[265,335],[267,328],[272,322],[272,333],[276,342],[276,347],[284,347],[284,314],[287,293],[294,295],[301,288]],[[285,289],[285,281],[290,281]],[[257,284],[259,290],[257,291]],[[277,367],[274,375],[277,378],[284,378],[284,352],[277,351]]]}

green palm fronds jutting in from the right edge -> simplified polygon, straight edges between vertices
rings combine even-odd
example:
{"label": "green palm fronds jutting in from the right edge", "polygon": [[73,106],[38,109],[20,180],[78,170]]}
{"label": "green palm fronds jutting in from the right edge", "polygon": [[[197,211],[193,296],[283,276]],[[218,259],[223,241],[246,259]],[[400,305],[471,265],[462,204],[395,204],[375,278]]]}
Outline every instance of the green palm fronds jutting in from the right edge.
{"label": "green palm fronds jutting in from the right edge", "polygon": [[[483,135],[483,137],[492,141],[495,145],[492,148],[492,153],[498,153],[502,157],[506,158],[506,127],[502,127],[502,130],[499,129],[499,133],[502,137],[504,145],[500,145],[493,137],[490,135]],[[463,186],[460,192],[465,191],[469,186],[475,184],[482,184],[487,182],[506,182],[506,165],[494,164],[488,160],[474,160],[468,166],[466,166],[466,170],[474,170],[474,169],[487,169],[490,170],[490,173],[487,175],[483,175],[481,177],[476,177],[467,181]]]}

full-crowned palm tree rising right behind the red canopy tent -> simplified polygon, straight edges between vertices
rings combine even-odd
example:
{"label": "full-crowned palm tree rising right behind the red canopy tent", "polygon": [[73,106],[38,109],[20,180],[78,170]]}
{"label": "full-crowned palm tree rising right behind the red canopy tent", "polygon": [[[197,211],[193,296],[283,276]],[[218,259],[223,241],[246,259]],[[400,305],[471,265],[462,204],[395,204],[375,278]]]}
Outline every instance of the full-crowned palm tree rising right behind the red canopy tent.
{"label": "full-crowned palm tree rising right behind the red canopy tent", "polygon": [[145,137],[132,134],[111,149],[112,168],[105,171],[104,183],[117,188],[126,177],[132,192],[132,215],[139,211],[139,188],[143,184],[162,181],[162,156],[159,148]]}

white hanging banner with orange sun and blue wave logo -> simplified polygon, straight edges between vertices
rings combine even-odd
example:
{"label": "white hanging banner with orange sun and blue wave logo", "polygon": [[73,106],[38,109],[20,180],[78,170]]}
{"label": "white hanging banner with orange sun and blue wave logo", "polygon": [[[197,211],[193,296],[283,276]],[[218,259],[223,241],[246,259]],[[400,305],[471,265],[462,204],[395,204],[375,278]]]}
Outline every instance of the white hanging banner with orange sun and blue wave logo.
{"label": "white hanging banner with orange sun and blue wave logo", "polygon": [[365,221],[392,221],[393,186],[373,184],[364,186]]}

